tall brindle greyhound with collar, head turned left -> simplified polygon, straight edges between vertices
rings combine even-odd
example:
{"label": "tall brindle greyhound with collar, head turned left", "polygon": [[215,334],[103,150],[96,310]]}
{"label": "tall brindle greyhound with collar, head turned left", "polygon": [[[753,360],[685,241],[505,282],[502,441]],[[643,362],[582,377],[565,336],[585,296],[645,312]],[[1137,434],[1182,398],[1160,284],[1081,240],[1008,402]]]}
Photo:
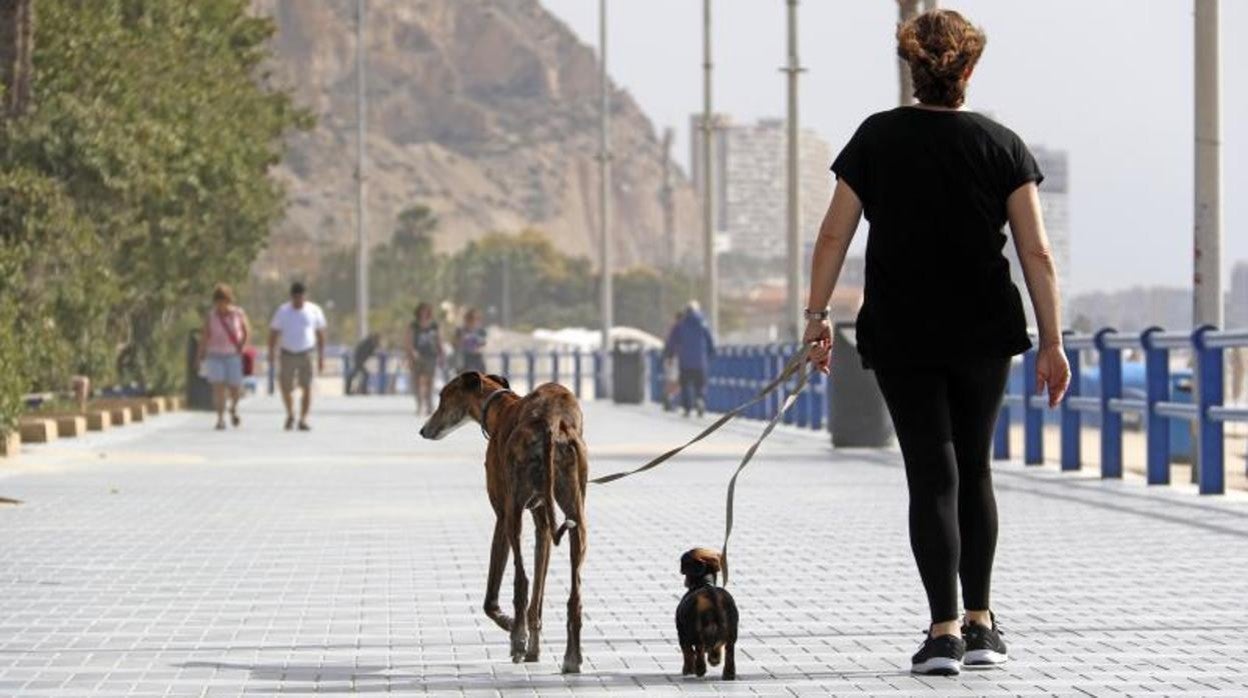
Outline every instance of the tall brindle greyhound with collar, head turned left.
{"label": "tall brindle greyhound with collar, head turned left", "polygon": [[[510,391],[507,378],[469,371],[442,388],[438,410],[421,428],[421,436],[442,438],[469,421],[479,423],[489,441],[485,489],[498,517],[489,551],[485,614],[504,631],[510,631],[512,662],[538,661],[550,543],[559,544],[567,531],[572,541],[572,594],[568,597],[568,649],[563,672],[579,673],[580,563],[587,548],[585,481],[589,474],[580,406],[563,386],[547,383],[519,397]],[[555,526],[555,504],[565,517],[559,527]],[[529,582],[520,556],[524,509],[533,513],[537,529],[532,603],[527,598]],[[515,557],[517,622],[498,607],[508,544]]]}

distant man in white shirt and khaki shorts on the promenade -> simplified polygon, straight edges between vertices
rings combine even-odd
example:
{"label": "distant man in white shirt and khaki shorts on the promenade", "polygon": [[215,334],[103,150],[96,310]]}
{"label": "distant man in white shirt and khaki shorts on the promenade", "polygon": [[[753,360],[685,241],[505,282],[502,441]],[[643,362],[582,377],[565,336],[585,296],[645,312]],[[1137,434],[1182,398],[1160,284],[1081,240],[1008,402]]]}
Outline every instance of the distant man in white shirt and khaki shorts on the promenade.
{"label": "distant man in white shirt and khaki shorts on the promenade", "polygon": [[[295,385],[303,391],[300,405],[300,431],[308,431],[308,410],[312,407],[312,350],[316,350],[316,371],[324,371],[324,312],[306,300],[306,288],[291,285],[291,300],[282,303],[268,323],[268,356],[277,361],[282,402],[286,403],[286,431],[295,428]],[[277,348],[281,346],[281,353]]]}

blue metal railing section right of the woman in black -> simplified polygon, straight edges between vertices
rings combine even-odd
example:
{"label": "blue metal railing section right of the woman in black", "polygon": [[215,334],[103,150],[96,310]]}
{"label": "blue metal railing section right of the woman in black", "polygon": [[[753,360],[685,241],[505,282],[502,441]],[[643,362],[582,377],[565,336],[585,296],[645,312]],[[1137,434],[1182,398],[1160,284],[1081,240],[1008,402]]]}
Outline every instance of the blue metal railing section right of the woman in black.
{"label": "blue metal railing section right of the woman in black", "polygon": [[[1061,403],[1061,467],[1082,467],[1082,422],[1085,416],[1101,421],[1101,477],[1122,477],[1123,417],[1138,417],[1146,430],[1146,477],[1149,484],[1168,484],[1174,428],[1171,421],[1194,425],[1194,467],[1202,494],[1226,491],[1226,422],[1248,422],[1248,408],[1224,405],[1224,350],[1248,347],[1248,330],[1218,331],[1201,327],[1194,332],[1166,332],[1151,327],[1139,335],[1118,333],[1111,328],[1094,335],[1067,335],[1066,356],[1071,362],[1071,390]],[[1126,395],[1123,351],[1143,355],[1143,396]],[[1176,400],[1171,352],[1189,351],[1196,366],[1192,380],[1193,400]],[[1082,395],[1087,370],[1082,355],[1096,352],[1097,395]],[[1010,457],[1010,426],[1022,417],[1023,462],[1043,462],[1043,410],[1047,396],[1036,395],[1036,351],[1022,361],[1022,391],[1006,396],[997,420],[993,457]]]}

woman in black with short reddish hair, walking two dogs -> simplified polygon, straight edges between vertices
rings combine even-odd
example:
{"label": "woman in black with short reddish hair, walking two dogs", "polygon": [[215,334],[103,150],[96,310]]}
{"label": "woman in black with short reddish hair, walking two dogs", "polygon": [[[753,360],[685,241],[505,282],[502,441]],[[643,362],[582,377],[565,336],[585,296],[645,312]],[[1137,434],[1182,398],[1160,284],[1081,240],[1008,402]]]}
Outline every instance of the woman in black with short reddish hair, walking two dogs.
{"label": "woman in black with short reddish hair, walking two dogs", "polygon": [[1011,357],[1031,340],[1001,253],[1006,222],[1036,311],[1037,385],[1053,406],[1070,381],[1036,189],[1043,175],[1013,131],[962,109],[983,44],[983,32],[951,10],[897,29],[919,104],[867,117],[832,164],[836,190],[815,243],[806,310],[811,361],[826,372],[827,301],[865,214],[857,347],[875,370],[905,461],[910,546],[931,609],[911,664],[922,674],[1007,658],[988,599],[997,544],[990,447]]}

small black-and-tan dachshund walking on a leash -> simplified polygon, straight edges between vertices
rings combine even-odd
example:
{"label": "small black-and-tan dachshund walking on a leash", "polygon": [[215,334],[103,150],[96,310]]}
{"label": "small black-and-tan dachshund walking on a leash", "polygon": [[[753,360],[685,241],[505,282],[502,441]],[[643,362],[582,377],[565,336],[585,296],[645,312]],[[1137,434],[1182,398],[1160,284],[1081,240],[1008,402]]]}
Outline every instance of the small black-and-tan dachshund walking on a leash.
{"label": "small black-and-tan dachshund walking on a leash", "polygon": [[720,568],[719,553],[708,548],[680,556],[680,573],[689,589],[676,606],[676,637],[685,658],[681,676],[705,676],[708,662],[718,667],[723,659],[724,681],[736,678],[736,602],[715,586]]}

